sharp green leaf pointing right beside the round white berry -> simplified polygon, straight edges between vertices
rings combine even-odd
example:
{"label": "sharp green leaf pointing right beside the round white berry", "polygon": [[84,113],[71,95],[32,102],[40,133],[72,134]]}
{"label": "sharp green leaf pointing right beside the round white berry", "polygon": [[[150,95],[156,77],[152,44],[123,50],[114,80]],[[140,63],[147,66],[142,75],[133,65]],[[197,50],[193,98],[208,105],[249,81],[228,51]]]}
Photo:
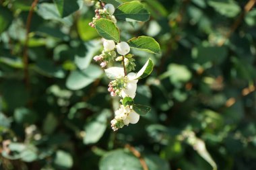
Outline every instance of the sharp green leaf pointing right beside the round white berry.
{"label": "sharp green leaf pointing right beside the round white berry", "polygon": [[128,44],[132,48],[137,48],[138,50],[143,50],[150,53],[159,54],[161,52],[158,42],[149,36],[131,38],[131,40],[128,40]]}

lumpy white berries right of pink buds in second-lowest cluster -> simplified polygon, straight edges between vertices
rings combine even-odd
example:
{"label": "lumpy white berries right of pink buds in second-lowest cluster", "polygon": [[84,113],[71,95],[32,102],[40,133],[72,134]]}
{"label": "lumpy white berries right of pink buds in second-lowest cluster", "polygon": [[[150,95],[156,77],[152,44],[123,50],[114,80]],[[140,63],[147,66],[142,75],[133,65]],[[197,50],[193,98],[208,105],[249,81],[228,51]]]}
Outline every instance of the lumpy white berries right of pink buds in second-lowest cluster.
{"label": "lumpy white berries right of pink buds in second-lowest cluster", "polygon": [[122,97],[131,97],[134,98],[136,95],[136,89],[137,89],[137,81],[135,80],[136,73],[129,73],[127,75],[127,87],[125,89],[121,90]]}

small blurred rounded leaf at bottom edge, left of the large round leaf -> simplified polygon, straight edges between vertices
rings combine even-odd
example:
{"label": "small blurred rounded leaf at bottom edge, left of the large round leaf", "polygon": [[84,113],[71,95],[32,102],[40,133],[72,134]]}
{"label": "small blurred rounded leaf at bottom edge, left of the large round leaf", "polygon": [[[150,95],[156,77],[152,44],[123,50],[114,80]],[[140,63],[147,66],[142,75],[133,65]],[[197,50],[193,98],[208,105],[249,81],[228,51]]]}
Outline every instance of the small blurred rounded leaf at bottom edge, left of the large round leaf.
{"label": "small blurred rounded leaf at bottom edge, left of the large round leaf", "polygon": [[54,163],[61,169],[69,169],[73,166],[73,158],[69,153],[59,150],[56,153]]}

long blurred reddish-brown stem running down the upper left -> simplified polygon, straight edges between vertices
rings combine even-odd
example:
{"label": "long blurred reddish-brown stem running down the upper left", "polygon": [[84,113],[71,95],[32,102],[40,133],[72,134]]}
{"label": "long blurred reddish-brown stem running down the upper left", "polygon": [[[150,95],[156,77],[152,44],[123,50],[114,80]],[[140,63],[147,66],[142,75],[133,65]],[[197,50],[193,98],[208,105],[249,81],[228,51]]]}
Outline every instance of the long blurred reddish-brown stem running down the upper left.
{"label": "long blurred reddish-brown stem running down the upper left", "polygon": [[29,33],[30,33],[30,25],[31,25],[31,20],[32,20],[32,15],[34,11],[34,7],[36,7],[38,3],[38,0],[34,0],[31,7],[30,11],[28,13],[28,18],[26,22],[26,40],[24,43],[24,54],[23,54],[23,63],[24,63],[24,81],[26,84],[26,87],[29,86],[29,75],[28,75],[28,40],[29,40]]}

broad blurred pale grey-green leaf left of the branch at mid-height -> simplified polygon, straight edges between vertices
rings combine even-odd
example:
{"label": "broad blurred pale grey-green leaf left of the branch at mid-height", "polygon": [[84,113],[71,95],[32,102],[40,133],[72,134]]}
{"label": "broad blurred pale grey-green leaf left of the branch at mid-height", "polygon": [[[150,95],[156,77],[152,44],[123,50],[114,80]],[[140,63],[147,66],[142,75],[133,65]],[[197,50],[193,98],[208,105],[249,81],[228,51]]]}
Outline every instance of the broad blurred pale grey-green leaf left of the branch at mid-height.
{"label": "broad blurred pale grey-green leaf left of the branch at mid-height", "polygon": [[67,77],[66,86],[71,90],[82,89],[94,82],[102,75],[99,67],[90,65],[84,71],[72,71]]}

